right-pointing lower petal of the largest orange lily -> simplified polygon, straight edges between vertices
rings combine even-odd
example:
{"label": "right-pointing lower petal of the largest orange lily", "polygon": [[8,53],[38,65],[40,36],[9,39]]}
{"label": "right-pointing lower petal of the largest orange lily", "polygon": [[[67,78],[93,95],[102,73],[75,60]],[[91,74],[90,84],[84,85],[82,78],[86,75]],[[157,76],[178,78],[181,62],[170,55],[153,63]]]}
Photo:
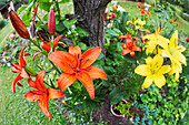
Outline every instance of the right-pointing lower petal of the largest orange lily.
{"label": "right-pointing lower petal of the largest orange lily", "polygon": [[97,66],[89,66],[87,69],[87,73],[92,77],[92,79],[103,79],[108,80],[107,74],[99,67]]}

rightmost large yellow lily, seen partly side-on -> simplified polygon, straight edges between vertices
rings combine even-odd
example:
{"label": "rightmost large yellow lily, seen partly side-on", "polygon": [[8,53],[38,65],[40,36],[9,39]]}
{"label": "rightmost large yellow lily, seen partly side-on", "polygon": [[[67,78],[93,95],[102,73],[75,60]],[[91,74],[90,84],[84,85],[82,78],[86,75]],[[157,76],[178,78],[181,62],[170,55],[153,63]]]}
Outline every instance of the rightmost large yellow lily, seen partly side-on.
{"label": "rightmost large yellow lily, seen partly side-on", "polygon": [[169,58],[171,61],[171,71],[169,72],[169,74],[171,75],[176,73],[176,77],[173,81],[177,81],[179,79],[179,73],[182,73],[181,64],[187,65],[186,58],[181,53],[185,50],[185,46],[178,45],[178,31],[176,30],[176,32],[170,38],[169,45],[167,45],[161,53],[162,56]]}

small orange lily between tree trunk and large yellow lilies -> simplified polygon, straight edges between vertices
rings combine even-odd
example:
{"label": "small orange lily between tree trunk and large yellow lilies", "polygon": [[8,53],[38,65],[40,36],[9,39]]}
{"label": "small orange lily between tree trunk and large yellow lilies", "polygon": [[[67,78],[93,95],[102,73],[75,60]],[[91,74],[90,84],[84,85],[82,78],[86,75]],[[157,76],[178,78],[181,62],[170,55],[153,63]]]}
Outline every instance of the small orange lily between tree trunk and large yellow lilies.
{"label": "small orange lily between tree trunk and large yellow lilies", "polygon": [[140,51],[141,52],[141,49],[140,46],[137,46],[136,45],[136,42],[126,42],[126,44],[122,44],[122,48],[125,49],[122,51],[122,55],[126,55],[128,53],[130,53],[130,56],[135,56],[135,51]]}

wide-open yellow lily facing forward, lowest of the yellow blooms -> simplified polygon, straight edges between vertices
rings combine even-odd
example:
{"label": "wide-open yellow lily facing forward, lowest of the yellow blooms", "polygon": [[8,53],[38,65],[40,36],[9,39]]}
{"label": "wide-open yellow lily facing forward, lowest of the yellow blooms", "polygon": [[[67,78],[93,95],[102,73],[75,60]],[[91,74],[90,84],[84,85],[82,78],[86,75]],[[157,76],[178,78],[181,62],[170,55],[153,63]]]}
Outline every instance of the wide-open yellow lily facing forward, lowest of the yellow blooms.
{"label": "wide-open yellow lily facing forward, lowest of the yellow blooms", "polygon": [[150,56],[146,59],[147,64],[141,64],[135,69],[135,73],[147,76],[142,86],[149,87],[152,82],[161,88],[166,84],[163,74],[170,71],[170,65],[162,65],[163,58],[157,54],[153,59]]}

